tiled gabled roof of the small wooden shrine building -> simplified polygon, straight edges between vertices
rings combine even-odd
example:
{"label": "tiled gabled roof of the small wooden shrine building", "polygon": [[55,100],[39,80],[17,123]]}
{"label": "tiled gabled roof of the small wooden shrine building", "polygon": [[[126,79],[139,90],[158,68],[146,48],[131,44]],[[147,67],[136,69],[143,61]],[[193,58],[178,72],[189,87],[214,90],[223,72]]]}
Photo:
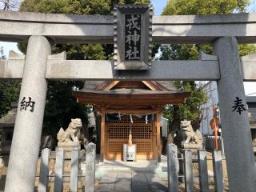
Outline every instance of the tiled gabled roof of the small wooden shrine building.
{"label": "tiled gabled roof of the small wooden shrine building", "polygon": [[82,90],[74,91],[78,102],[118,105],[178,104],[185,102],[190,92],[182,92],[174,87],[173,82],[85,82]]}

